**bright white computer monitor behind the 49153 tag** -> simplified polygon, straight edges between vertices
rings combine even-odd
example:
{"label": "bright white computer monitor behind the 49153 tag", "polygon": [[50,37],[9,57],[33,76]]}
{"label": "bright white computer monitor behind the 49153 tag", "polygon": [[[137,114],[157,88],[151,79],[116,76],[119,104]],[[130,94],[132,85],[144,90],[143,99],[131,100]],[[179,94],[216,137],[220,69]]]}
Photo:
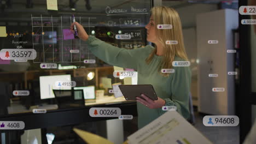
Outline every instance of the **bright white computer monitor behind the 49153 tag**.
{"label": "bright white computer monitor behind the 49153 tag", "polygon": [[53,75],[53,76],[40,76],[40,98],[51,99],[55,98],[53,89],[71,89],[71,86],[57,87],[56,81],[71,82],[71,75]]}

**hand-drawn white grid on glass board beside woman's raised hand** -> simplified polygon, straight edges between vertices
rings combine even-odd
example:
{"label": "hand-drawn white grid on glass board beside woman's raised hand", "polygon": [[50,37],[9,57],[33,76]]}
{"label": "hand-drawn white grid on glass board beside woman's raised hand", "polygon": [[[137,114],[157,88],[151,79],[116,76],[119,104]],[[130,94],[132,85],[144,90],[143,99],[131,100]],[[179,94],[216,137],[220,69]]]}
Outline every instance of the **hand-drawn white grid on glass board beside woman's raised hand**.
{"label": "hand-drawn white grid on glass board beside woman's raised hand", "polygon": [[[75,17],[75,20],[81,23],[85,28],[91,26],[91,19],[96,17]],[[32,41],[33,49],[37,51],[37,57],[34,63],[74,63],[84,62],[84,59],[90,58],[90,52],[87,44],[83,40],[75,39],[69,31],[72,17],[33,17],[32,21]]]}

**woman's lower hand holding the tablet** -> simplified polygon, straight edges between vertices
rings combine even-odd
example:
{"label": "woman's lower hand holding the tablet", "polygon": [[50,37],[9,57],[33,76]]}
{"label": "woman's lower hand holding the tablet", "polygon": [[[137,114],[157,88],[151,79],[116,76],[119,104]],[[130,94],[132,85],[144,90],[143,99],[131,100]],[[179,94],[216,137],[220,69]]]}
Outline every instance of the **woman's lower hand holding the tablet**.
{"label": "woman's lower hand holding the tablet", "polygon": [[146,95],[141,94],[141,97],[143,98],[139,98],[136,97],[136,101],[138,101],[139,103],[147,106],[149,109],[159,109],[162,108],[162,106],[165,105],[165,100],[161,99],[158,97],[158,100],[152,100],[150,98],[148,98]]}

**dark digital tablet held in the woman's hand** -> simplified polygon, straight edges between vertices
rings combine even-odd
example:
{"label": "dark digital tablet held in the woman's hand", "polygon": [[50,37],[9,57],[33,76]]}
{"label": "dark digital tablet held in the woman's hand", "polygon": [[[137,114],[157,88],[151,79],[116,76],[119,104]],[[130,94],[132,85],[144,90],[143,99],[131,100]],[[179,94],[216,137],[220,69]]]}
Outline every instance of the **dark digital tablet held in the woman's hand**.
{"label": "dark digital tablet held in the woman's hand", "polygon": [[141,94],[152,100],[158,100],[152,85],[119,85],[119,88],[126,100],[136,100],[136,97],[141,97]]}

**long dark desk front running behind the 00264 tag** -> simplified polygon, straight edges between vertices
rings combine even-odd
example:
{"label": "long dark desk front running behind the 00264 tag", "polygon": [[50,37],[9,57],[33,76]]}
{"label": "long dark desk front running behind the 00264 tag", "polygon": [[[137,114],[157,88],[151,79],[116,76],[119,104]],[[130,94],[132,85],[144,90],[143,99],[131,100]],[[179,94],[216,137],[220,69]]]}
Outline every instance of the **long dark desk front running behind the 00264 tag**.
{"label": "long dark desk front running behind the 00264 tag", "polygon": [[[101,101],[100,101],[101,102]],[[100,104],[96,101],[97,107],[119,107],[121,115],[137,116],[137,105],[135,101],[121,101],[116,100],[115,103]],[[64,125],[79,124],[84,122],[104,121],[107,119],[116,119],[117,117],[90,117],[89,110],[91,105],[85,107],[72,108],[72,109],[56,109],[50,110],[46,113],[15,113],[7,116],[0,116],[0,121],[23,121],[25,123],[24,130],[48,128],[48,127],[61,127]],[[10,131],[10,130],[3,130]]]}

